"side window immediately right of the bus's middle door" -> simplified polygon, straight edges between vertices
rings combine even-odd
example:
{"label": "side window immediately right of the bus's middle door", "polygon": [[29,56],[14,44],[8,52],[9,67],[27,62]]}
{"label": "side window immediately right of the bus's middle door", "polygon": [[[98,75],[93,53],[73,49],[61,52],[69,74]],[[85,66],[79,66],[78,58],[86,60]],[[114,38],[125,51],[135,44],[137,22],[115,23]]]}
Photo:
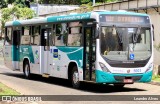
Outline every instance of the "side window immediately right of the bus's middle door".
{"label": "side window immediately right of the bus's middle door", "polygon": [[56,46],[65,46],[67,40],[67,24],[61,23],[56,24],[56,36],[55,36],[55,45]]}

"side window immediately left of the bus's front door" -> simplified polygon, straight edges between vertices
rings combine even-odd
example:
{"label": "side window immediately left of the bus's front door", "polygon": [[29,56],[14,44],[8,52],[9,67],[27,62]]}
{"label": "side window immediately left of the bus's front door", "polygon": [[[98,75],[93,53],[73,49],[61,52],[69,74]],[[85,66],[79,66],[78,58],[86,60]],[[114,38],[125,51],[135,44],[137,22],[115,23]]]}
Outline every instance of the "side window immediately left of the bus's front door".
{"label": "side window immediately left of the bus's front door", "polygon": [[68,34],[68,46],[80,46],[82,38],[82,23],[70,22]]}

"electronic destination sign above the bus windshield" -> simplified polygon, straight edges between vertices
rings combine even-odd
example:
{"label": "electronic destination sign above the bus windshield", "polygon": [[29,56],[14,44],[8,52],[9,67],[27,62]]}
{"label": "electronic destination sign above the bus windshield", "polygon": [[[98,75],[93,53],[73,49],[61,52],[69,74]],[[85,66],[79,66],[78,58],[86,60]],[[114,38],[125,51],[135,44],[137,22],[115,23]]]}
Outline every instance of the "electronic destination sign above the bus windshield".
{"label": "electronic destination sign above the bus windshield", "polygon": [[100,22],[108,23],[149,23],[147,16],[100,15]]}

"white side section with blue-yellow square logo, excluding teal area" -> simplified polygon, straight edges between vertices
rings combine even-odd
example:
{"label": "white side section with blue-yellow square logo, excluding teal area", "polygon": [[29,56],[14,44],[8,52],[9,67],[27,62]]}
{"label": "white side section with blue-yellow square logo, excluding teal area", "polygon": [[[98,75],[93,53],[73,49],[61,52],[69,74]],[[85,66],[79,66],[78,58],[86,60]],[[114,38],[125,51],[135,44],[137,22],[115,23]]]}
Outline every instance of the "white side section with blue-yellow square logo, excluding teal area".
{"label": "white side section with blue-yellow square logo, excluding teal area", "polygon": [[50,76],[68,78],[67,66],[70,60],[65,52],[60,51],[55,46],[50,47],[49,61]]}

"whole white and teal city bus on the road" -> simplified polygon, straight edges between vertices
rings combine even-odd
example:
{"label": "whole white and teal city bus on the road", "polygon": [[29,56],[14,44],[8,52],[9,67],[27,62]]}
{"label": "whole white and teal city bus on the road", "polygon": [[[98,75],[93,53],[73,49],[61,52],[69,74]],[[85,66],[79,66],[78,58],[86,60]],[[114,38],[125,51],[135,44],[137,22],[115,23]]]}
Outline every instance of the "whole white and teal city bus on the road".
{"label": "whole white and teal city bus on the road", "polygon": [[149,82],[153,28],[147,14],[93,11],[5,24],[4,62],[25,77],[89,81],[123,87]]}

